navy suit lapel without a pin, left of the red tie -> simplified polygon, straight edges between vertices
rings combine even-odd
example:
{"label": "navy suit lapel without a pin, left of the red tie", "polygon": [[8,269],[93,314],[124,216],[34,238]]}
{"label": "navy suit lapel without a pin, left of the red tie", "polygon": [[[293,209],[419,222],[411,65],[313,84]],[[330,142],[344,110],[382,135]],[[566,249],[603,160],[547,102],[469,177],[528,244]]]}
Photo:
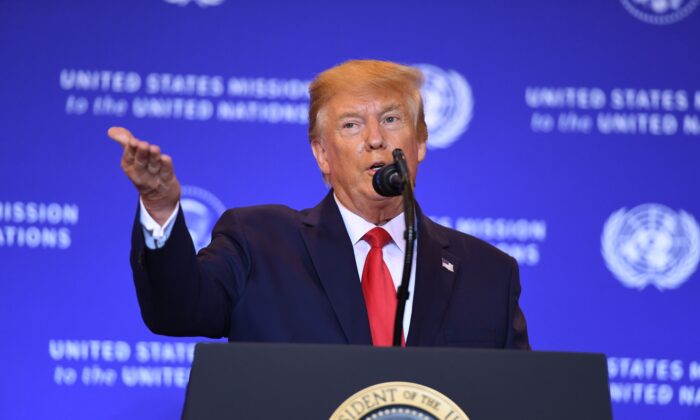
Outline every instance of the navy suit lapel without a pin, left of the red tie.
{"label": "navy suit lapel without a pin, left of the red tie", "polygon": [[355,254],[332,190],[302,215],[301,235],[348,343],[371,344]]}

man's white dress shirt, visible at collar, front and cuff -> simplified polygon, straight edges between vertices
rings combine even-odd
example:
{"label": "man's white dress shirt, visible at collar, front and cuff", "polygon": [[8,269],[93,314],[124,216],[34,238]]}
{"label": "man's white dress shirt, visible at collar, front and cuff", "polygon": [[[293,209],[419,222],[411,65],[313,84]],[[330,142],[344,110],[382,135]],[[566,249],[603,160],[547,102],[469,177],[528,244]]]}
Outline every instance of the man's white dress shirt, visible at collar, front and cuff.
{"label": "man's white dress shirt, visible at collar, front and cuff", "polygon": [[[367,259],[367,254],[369,253],[369,244],[362,239],[363,236],[376,226],[362,217],[356,215],[355,213],[348,210],[343,206],[338,198],[333,195],[338,209],[340,210],[340,215],[343,218],[343,223],[345,224],[345,229],[350,237],[350,242],[352,243],[353,251],[355,252],[355,263],[357,264],[357,275],[362,281],[362,271],[365,267],[365,260]],[[162,248],[165,242],[170,237],[170,233],[173,230],[173,225],[175,224],[175,216],[180,209],[180,203],[178,203],[173,213],[168,217],[168,220],[161,226],[156,222],[143,205],[143,201],[139,199],[141,206],[140,221],[143,227],[143,236],[146,241],[146,247],[149,249]],[[384,246],[382,250],[384,255],[384,262],[389,268],[391,273],[391,278],[394,281],[394,286],[398,289],[401,284],[401,276],[403,275],[403,261],[404,261],[404,250],[406,249],[406,240],[403,237],[404,229],[406,223],[404,221],[403,213],[391,219],[386,224],[381,227],[385,229],[391,236],[392,241]],[[418,252],[418,242],[416,241],[416,246],[413,249],[413,269],[411,270],[411,277],[408,283],[409,297],[406,301],[406,309],[403,315],[403,333],[404,338],[408,340],[408,328],[411,324],[411,312],[413,310],[413,290],[416,284],[416,255]]]}

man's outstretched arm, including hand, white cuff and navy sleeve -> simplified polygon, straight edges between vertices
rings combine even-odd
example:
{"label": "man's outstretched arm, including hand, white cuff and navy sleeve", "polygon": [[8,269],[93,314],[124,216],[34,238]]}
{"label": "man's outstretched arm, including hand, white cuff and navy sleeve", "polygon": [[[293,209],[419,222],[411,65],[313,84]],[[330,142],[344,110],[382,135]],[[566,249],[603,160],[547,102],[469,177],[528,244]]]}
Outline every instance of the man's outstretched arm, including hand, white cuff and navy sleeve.
{"label": "man's outstretched arm, including hand, white cuff and navy sleeve", "polygon": [[223,245],[232,247],[230,251],[220,246],[199,261],[184,215],[175,212],[180,184],[170,156],[125,128],[112,127],[108,135],[124,148],[122,169],[139,192],[148,215],[161,227],[173,216],[169,224],[173,237],[148,248],[144,218],[137,216],[135,220],[131,267],[144,322],[156,334],[227,335],[236,278],[229,266],[235,265],[230,261],[237,248],[227,242]]}

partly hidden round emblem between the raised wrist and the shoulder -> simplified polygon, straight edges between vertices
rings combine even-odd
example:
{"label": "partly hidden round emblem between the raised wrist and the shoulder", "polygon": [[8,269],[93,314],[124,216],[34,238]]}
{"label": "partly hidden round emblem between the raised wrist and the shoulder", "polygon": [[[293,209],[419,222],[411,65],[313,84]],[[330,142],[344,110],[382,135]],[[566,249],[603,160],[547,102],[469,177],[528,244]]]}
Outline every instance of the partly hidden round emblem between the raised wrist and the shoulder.
{"label": "partly hidden round emblem between the raised wrist and the shoulder", "polygon": [[192,242],[197,251],[209,244],[214,223],[226,211],[226,206],[209,191],[193,186],[183,186],[180,197]]}

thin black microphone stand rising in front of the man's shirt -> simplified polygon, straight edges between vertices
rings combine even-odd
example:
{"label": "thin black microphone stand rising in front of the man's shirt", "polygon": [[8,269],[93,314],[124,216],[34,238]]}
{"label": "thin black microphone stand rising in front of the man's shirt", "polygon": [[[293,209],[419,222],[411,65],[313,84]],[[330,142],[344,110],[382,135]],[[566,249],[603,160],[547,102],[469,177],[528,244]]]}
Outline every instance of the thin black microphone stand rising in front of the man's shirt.
{"label": "thin black microphone stand rising in front of the man's shirt", "polygon": [[394,318],[393,343],[394,347],[401,347],[403,338],[403,314],[406,309],[406,301],[408,300],[409,296],[408,283],[411,280],[413,249],[416,242],[416,208],[411,174],[409,173],[403,151],[401,149],[394,149],[393,156],[403,184],[401,195],[403,196],[403,214],[406,222],[406,230],[404,231],[404,239],[406,239],[406,252],[403,260],[403,276],[401,277],[401,285],[396,291],[397,302],[396,317]]}

